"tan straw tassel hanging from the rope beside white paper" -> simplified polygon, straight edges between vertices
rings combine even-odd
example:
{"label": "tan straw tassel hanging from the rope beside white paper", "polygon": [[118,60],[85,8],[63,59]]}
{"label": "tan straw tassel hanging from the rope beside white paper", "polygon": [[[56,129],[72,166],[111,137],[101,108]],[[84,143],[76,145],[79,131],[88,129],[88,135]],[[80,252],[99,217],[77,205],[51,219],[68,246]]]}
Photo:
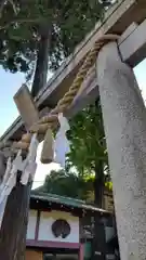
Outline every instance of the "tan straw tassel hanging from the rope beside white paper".
{"label": "tan straw tassel hanging from the rope beside white paper", "polygon": [[41,151],[41,162],[50,164],[54,159],[54,139],[51,128],[47,130],[44,142]]}

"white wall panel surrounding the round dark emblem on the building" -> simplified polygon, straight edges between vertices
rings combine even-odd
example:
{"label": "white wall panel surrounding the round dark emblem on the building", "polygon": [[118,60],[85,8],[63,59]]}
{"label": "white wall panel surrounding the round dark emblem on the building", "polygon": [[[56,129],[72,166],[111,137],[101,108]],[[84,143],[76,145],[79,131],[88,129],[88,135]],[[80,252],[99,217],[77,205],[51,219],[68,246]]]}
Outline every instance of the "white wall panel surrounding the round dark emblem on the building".
{"label": "white wall panel surrounding the round dark emblem on the building", "polygon": [[[71,231],[66,238],[55,237],[52,233],[51,226],[57,219],[65,219],[70,224]],[[63,211],[41,212],[38,240],[79,243],[79,218]]]}

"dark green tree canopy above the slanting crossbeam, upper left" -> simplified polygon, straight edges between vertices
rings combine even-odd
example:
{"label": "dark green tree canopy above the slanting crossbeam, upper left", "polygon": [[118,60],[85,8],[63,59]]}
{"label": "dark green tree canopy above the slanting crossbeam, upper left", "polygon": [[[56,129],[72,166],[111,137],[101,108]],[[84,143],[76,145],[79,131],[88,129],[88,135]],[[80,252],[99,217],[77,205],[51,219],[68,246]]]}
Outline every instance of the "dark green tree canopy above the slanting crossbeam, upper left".
{"label": "dark green tree canopy above the slanting crossbeam, upper left", "polygon": [[[4,4],[5,2],[5,4]],[[29,72],[41,31],[51,27],[50,68],[56,69],[102,17],[110,1],[11,0],[0,3],[0,64],[12,73]]]}

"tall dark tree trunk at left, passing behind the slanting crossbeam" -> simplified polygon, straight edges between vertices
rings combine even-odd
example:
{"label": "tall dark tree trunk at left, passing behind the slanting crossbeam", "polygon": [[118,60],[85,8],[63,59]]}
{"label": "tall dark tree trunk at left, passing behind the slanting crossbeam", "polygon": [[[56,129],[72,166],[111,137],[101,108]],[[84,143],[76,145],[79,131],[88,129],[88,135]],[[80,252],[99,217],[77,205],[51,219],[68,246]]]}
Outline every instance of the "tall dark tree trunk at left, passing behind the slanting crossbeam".
{"label": "tall dark tree trunk at left, passing behind the slanting crossbeam", "polygon": [[[44,36],[45,31],[45,36]],[[41,37],[32,83],[32,94],[47,82],[50,30],[44,29]],[[26,231],[29,211],[31,184],[23,186],[17,182],[10,194],[0,231],[0,258],[3,260],[24,260]]]}

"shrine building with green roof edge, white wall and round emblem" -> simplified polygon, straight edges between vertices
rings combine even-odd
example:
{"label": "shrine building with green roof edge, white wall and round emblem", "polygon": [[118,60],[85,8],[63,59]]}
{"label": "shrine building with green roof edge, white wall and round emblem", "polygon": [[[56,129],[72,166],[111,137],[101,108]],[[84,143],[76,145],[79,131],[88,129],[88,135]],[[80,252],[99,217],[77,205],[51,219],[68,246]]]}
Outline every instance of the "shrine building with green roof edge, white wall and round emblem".
{"label": "shrine building with green roof edge, white wall and round emblem", "polygon": [[26,260],[92,259],[94,218],[98,218],[104,225],[107,259],[115,259],[114,251],[107,246],[115,234],[110,212],[80,199],[34,192],[30,198]]}

